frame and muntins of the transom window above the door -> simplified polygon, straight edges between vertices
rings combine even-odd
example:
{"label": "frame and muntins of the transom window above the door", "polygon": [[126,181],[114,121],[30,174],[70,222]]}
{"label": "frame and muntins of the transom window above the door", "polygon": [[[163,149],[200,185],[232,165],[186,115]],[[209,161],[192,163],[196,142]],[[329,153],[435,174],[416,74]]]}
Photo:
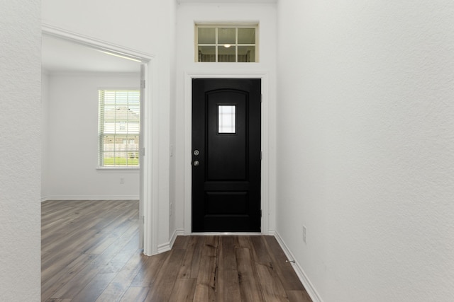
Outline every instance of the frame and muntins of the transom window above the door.
{"label": "frame and muntins of the transom window above the door", "polygon": [[[258,63],[259,57],[259,23],[194,23],[194,62],[196,63]],[[199,43],[199,28],[215,28],[215,42],[214,43]],[[218,29],[219,28],[236,28],[236,43],[232,44],[235,47],[235,62],[218,62],[218,46],[224,43],[218,43]],[[255,43],[252,44],[238,44],[238,28],[255,28]],[[199,46],[212,46],[215,47],[215,61],[214,62],[200,62],[199,61]],[[255,61],[253,62],[238,62],[238,46],[254,46],[255,47]]]}

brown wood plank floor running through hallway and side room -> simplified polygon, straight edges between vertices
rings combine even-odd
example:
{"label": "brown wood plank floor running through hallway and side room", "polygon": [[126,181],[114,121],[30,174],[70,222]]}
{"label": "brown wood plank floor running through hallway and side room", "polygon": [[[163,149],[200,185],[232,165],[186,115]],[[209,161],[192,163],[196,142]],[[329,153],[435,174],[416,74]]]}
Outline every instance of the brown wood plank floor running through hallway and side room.
{"label": "brown wood plank floor running through hallway and side room", "polygon": [[42,301],[311,301],[272,236],[178,236],[138,250],[138,202],[42,204]]}

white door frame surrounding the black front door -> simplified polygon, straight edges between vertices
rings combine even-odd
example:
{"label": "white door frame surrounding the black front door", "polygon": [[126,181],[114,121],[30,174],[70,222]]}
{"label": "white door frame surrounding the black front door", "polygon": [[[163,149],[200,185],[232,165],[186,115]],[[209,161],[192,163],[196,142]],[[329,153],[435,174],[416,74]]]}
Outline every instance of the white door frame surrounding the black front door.
{"label": "white door frame surrounding the black front door", "polygon": [[261,116],[261,230],[263,235],[270,235],[269,220],[269,183],[270,183],[270,130],[269,130],[269,81],[266,71],[245,72],[186,72],[184,74],[184,235],[192,234],[192,79],[261,79],[262,80],[262,116]]}

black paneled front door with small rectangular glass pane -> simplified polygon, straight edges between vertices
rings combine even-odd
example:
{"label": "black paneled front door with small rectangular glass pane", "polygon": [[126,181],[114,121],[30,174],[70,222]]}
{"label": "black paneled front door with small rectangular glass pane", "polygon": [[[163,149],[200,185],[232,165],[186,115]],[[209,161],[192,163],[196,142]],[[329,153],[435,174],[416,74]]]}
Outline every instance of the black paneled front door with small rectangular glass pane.
{"label": "black paneled front door with small rectangular glass pane", "polygon": [[260,231],[260,79],[192,80],[192,231]]}

